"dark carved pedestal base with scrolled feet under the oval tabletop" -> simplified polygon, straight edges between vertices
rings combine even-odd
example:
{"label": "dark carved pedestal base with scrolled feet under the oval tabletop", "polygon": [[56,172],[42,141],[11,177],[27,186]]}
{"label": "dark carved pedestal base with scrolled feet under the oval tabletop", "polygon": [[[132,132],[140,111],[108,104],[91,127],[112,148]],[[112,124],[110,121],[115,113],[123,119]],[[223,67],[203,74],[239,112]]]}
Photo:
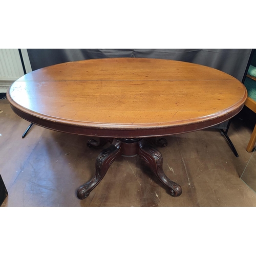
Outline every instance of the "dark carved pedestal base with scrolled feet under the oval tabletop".
{"label": "dark carved pedestal base with scrolled feet under the oval tabletop", "polygon": [[105,150],[101,151],[95,163],[95,176],[87,183],[83,184],[77,189],[77,197],[79,199],[87,198],[91,191],[99,184],[108,171],[111,164],[119,156],[139,156],[152,169],[153,173],[162,182],[162,184],[169,191],[173,197],[178,197],[182,193],[180,185],[171,181],[163,172],[163,158],[161,153],[152,145],[166,146],[165,139],[101,139],[100,142],[90,140],[89,147],[103,146],[105,143],[111,141],[111,145]]}

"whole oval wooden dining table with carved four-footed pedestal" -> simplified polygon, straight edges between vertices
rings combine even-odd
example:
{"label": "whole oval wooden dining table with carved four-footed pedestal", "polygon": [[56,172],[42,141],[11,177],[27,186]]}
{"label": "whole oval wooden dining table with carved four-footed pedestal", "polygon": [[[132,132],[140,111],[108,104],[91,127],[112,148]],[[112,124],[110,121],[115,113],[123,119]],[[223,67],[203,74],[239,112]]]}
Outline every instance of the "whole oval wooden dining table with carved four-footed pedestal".
{"label": "whole oval wooden dining table with carved four-footed pedestal", "polygon": [[236,78],[206,66],[150,58],[81,60],[20,77],[7,98],[12,110],[47,129],[90,136],[89,147],[105,147],[95,176],[81,185],[89,196],[113,161],[139,156],[174,197],[182,188],[164,173],[157,146],[164,136],[198,131],[237,115],[247,98]]}

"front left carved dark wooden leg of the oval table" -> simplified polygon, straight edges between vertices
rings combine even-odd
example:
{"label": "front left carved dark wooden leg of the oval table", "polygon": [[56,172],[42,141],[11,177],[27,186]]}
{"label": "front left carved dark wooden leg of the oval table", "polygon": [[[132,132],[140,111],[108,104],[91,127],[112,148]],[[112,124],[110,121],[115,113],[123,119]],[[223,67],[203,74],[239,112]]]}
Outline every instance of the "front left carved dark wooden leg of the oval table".
{"label": "front left carved dark wooden leg of the oval table", "polygon": [[120,144],[120,142],[114,140],[108,148],[101,151],[95,163],[95,176],[77,189],[77,197],[79,199],[87,198],[90,195],[90,192],[103,179],[114,160],[121,155]]}

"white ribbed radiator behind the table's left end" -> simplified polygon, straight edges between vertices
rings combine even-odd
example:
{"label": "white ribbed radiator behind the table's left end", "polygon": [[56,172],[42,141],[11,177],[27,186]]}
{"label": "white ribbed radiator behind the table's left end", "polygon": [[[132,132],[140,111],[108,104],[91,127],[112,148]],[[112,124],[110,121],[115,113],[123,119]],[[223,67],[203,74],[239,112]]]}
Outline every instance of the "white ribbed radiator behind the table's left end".
{"label": "white ribbed radiator behind the table's left end", "polygon": [[[28,73],[31,71],[31,66],[27,50],[22,49],[22,54]],[[0,49],[0,93],[6,92],[9,86],[23,75],[24,71],[18,49]]]}

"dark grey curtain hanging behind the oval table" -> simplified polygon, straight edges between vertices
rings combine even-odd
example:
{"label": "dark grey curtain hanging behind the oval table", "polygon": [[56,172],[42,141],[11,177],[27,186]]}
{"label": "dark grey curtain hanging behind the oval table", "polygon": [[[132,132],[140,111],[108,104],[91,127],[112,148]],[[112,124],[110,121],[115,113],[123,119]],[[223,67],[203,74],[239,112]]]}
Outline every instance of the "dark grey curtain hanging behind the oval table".
{"label": "dark grey curtain hanging behind the oval table", "polygon": [[32,70],[94,58],[159,58],[193,62],[242,81],[252,49],[27,49]]}

